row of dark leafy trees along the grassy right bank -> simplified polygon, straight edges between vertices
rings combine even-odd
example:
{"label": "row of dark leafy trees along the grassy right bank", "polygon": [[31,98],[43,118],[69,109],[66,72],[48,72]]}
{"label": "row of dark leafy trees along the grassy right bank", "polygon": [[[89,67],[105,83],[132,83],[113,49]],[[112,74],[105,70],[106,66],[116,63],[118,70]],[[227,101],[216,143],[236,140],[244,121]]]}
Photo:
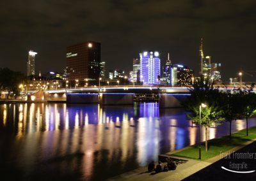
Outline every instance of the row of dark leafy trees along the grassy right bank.
{"label": "row of dark leafy trees along the grassy right bank", "polygon": [[[195,82],[190,89],[191,96],[182,104],[190,113],[188,118],[196,125],[205,127],[205,151],[207,152],[208,128],[214,124],[229,122],[231,139],[232,120],[246,119],[246,136],[248,136],[248,118],[256,114],[256,94],[253,87],[220,91],[205,81]],[[200,119],[201,107],[201,119]]]}

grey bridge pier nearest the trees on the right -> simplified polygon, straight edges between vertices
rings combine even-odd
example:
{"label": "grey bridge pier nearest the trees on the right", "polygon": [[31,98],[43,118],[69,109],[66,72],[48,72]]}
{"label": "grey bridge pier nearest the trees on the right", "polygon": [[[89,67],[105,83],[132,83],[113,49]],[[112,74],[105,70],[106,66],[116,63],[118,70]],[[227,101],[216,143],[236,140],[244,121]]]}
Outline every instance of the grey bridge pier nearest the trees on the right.
{"label": "grey bridge pier nearest the trees on the right", "polygon": [[159,94],[159,108],[180,108],[190,94]]}

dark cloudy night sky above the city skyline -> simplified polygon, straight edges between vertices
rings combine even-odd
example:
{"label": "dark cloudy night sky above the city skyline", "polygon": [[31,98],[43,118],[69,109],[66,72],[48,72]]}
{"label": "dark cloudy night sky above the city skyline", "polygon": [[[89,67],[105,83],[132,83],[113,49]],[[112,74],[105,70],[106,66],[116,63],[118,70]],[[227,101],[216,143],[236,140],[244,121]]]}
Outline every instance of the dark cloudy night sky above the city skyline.
{"label": "dark cloudy night sky above the city skyline", "polygon": [[[66,47],[98,41],[107,69],[132,70],[132,59],[157,50],[162,62],[198,74],[200,38],[204,54],[221,62],[225,81],[240,69],[256,71],[256,1],[247,0],[2,0],[0,67],[26,73],[35,50],[36,72],[62,71]],[[255,81],[244,75],[244,80]]]}

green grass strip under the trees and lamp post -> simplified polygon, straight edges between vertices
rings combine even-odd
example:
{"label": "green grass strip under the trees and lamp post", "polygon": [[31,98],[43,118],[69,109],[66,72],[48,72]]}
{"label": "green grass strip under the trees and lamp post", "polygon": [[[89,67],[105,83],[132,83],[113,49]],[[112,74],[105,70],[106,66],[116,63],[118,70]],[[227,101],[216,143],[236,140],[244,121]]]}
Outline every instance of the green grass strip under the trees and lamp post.
{"label": "green grass strip under the trees and lamp post", "polygon": [[[256,127],[250,127],[248,129],[249,136],[246,136],[246,129],[238,131],[237,133],[232,133],[232,138],[230,140],[228,136],[222,136],[220,138],[214,138],[208,141],[208,152],[205,152],[205,143],[202,142],[202,160],[210,159],[211,157],[220,155],[220,152],[225,152],[234,147],[237,147],[246,141],[250,141],[256,138]],[[185,150],[176,152],[172,156],[178,157],[188,157],[191,159],[198,159],[198,145],[192,145]]]}

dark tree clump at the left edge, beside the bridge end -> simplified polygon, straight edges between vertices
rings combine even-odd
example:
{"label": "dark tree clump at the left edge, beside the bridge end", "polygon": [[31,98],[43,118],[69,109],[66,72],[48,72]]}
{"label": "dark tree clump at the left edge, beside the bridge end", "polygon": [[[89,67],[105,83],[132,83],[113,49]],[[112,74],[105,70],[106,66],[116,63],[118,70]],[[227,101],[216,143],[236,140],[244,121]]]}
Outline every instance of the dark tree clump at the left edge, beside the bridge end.
{"label": "dark tree clump at the left edge, beside the bridge end", "polygon": [[8,92],[7,99],[10,94],[17,98],[20,93],[20,83],[25,80],[25,76],[19,71],[12,71],[8,68],[0,68],[0,91]]}

